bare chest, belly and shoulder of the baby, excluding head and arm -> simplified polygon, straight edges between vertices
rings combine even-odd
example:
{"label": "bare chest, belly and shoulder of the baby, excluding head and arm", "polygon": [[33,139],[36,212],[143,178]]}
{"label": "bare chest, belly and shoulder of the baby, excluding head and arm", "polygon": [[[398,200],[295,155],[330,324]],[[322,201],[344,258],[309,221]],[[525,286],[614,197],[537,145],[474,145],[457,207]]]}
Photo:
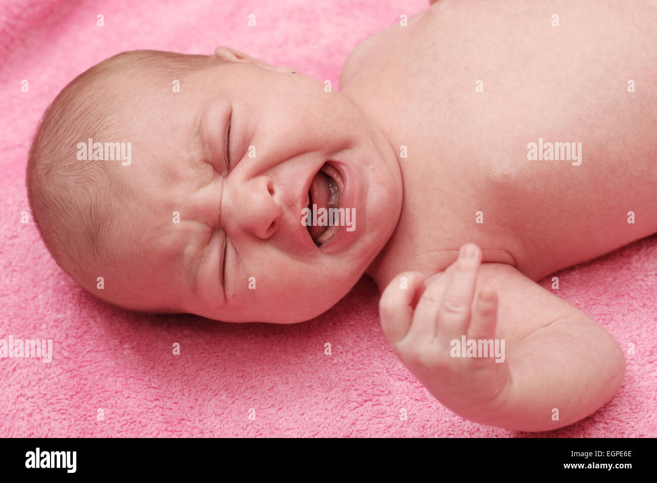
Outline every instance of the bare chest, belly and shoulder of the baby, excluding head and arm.
{"label": "bare chest, belly and shoulder of the baby, excluding head and arm", "polygon": [[647,0],[440,0],[361,43],[342,93],[404,186],[379,285],[466,242],[539,279],[655,233],[656,24]]}

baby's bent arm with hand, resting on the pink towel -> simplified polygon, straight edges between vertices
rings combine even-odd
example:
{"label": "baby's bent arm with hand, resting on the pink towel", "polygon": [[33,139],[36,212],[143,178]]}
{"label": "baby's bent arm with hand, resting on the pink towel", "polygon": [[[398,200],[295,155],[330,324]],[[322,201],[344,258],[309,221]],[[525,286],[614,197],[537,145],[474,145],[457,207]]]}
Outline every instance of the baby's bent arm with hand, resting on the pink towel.
{"label": "baby's bent arm with hand, resting on the pink towel", "polygon": [[[478,423],[524,431],[570,425],[599,409],[623,379],[625,359],[609,333],[514,267],[481,265],[473,244],[426,285],[419,272],[399,274],[379,308],[399,359],[443,405]],[[452,357],[451,341],[464,334],[505,340],[505,360]]]}

